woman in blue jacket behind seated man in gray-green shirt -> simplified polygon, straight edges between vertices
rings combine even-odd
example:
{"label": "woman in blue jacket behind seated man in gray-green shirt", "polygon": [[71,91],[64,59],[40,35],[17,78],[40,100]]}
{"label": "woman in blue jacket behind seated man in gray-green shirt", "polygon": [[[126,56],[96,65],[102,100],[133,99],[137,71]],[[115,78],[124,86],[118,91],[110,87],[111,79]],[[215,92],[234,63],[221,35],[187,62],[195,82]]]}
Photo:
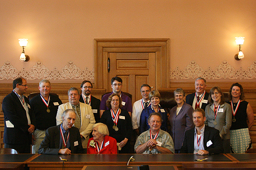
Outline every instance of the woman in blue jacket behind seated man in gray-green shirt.
{"label": "woman in blue jacket behind seated man in gray-green shirt", "polygon": [[147,131],[148,129],[150,129],[150,125],[148,125],[147,119],[150,116],[151,113],[153,112],[158,112],[161,114],[163,122],[161,125],[161,130],[163,131],[167,131],[167,113],[165,112],[165,110],[159,105],[160,103],[160,99],[161,99],[161,95],[158,91],[153,90],[150,92],[149,94],[150,97],[150,105],[147,106],[146,108],[144,108],[141,112],[140,115],[140,128],[139,128],[139,133],[141,134],[142,132]]}

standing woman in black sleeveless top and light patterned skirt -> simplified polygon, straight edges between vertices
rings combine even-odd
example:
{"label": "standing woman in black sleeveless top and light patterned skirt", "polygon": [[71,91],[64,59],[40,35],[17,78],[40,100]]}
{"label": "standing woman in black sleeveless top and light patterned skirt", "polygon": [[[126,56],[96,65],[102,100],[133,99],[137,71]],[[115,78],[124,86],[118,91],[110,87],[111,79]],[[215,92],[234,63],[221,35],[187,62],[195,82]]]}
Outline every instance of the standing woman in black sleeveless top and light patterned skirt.
{"label": "standing woman in black sleeveless top and light patterned skirt", "polygon": [[230,100],[228,103],[232,108],[231,149],[234,153],[245,153],[251,148],[249,130],[254,122],[253,110],[251,105],[244,100],[244,90],[241,84],[232,84],[228,96]]}

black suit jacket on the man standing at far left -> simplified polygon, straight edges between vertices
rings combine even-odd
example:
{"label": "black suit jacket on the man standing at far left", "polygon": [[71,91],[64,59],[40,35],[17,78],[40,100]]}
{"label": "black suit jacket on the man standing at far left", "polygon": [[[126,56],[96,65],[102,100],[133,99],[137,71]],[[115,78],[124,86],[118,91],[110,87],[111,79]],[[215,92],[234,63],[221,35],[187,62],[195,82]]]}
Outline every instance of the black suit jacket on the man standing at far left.
{"label": "black suit jacket on the man standing at far left", "polygon": [[[26,96],[24,100],[29,108],[31,125],[35,126],[35,117],[30,109],[29,100]],[[2,109],[5,119],[4,143],[31,144],[32,136],[28,132],[30,126],[28,125],[26,110],[13,91],[4,98]],[[7,121],[10,121],[14,128],[7,128]]]}

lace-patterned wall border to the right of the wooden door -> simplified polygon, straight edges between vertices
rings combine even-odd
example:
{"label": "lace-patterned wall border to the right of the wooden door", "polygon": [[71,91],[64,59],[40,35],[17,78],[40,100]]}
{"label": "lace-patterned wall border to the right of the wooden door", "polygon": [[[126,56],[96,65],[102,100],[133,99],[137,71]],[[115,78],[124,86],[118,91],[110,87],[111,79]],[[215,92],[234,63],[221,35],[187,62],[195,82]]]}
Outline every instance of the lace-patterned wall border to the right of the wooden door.
{"label": "lace-patterned wall border to the right of the wooden door", "polygon": [[227,61],[222,61],[215,69],[208,66],[205,70],[196,61],[190,63],[183,69],[177,66],[174,70],[170,68],[170,80],[195,79],[202,77],[208,80],[230,79],[230,80],[251,80],[256,78],[256,61],[253,61],[248,68],[234,69]]}

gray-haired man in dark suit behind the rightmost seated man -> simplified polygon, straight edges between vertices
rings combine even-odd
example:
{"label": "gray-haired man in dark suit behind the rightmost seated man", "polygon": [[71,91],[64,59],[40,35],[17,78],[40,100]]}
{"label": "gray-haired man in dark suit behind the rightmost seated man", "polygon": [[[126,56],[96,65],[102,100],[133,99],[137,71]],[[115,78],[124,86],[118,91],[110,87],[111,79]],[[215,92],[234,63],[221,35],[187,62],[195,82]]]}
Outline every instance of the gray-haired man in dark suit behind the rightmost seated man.
{"label": "gray-haired man in dark suit behind the rightmost seated man", "polygon": [[195,82],[196,92],[188,94],[186,96],[186,104],[189,104],[193,109],[201,108],[205,110],[205,107],[209,104],[208,97],[209,93],[205,91],[206,80],[204,78],[197,78]]}

